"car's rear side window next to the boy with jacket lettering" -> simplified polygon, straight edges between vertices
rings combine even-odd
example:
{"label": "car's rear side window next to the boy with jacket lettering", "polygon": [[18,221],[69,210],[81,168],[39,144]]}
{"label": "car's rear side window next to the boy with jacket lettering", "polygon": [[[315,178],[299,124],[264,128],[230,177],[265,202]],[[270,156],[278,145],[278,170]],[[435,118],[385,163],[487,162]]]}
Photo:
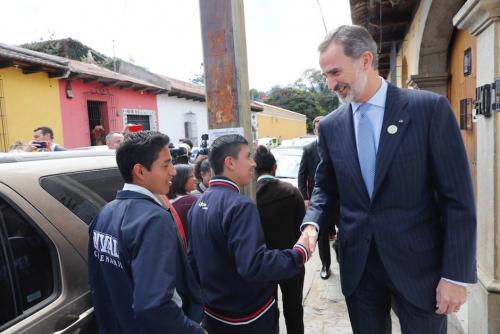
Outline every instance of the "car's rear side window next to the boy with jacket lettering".
{"label": "car's rear side window next to the boy with jacket lettering", "polygon": [[87,225],[123,188],[118,168],[45,176],[40,185]]}

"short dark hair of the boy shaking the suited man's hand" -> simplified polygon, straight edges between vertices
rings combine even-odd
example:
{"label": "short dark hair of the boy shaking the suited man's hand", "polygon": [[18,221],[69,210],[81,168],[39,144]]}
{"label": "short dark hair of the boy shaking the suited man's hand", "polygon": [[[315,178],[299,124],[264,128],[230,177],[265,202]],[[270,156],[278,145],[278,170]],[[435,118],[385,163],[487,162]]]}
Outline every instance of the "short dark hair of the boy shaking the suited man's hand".
{"label": "short dark hair of the boy shaking the suited man's hand", "polygon": [[248,141],[241,135],[225,135],[214,140],[208,153],[208,161],[215,175],[222,175],[224,172],[226,157],[238,158],[241,145],[248,145]]}

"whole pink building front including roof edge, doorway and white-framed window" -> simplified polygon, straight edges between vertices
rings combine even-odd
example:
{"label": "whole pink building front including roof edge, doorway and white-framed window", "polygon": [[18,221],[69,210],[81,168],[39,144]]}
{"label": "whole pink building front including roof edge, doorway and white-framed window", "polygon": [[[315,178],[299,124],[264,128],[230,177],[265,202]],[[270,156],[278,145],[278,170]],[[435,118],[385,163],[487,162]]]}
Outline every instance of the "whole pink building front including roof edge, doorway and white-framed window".
{"label": "whole pink building front including roof edge, doorway and white-framed window", "polygon": [[75,60],[59,82],[63,134],[67,148],[103,144],[103,135],[127,123],[159,130],[159,86]]}

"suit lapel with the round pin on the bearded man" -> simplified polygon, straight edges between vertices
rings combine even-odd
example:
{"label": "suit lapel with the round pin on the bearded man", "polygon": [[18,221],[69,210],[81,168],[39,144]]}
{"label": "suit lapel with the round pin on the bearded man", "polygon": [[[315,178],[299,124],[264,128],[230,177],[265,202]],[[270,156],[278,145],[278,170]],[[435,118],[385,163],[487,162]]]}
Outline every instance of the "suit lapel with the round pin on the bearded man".
{"label": "suit lapel with the round pin on the bearded man", "polygon": [[[377,195],[377,191],[382,185],[382,181],[387,174],[394,154],[410,123],[410,115],[406,110],[407,104],[408,99],[406,98],[405,92],[389,84],[385,102],[384,120],[382,122],[382,131],[380,132],[377,151],[375,184],[372,198],[375,198]],[[394,129],[397,129],[397,131],[392,134],[389,133],[389,126],[391,126],[393,131]]]}

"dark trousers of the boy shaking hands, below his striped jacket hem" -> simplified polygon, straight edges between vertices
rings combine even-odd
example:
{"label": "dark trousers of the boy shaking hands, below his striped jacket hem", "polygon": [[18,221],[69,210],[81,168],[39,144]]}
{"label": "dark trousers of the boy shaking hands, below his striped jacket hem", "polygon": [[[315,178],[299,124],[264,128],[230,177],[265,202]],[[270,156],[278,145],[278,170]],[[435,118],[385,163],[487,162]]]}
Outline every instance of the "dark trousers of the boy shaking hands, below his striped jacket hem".
{"label": "dark trousers of the boy shaking hands, below his striped jacket hem", "polygon": [[266,313],[247,325],[229,325],[205,316],[208,334],[279,334],[279,311],[275,303]]}

